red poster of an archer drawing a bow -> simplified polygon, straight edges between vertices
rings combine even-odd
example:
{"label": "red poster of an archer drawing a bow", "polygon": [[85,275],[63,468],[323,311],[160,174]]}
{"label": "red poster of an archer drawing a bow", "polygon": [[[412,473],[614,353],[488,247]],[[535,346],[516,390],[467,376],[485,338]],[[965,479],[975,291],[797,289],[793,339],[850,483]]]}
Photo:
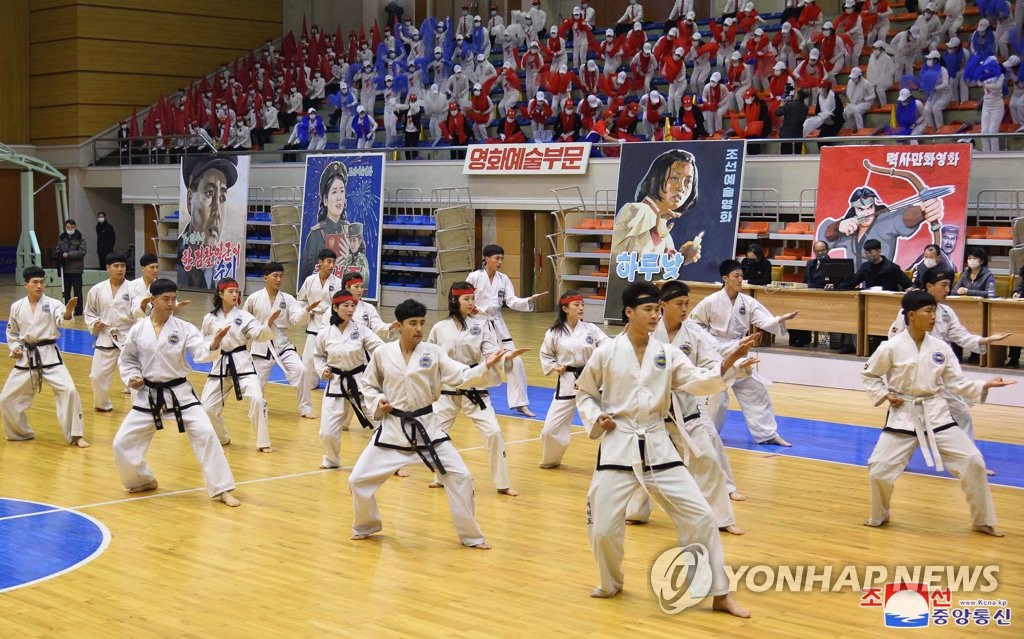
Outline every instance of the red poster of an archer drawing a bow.
{"label": "red poster of an archer drawing a bow", "polygon": [[834,258],[864,260],[864,243],[904,269],[937,244],[954,272],[964,262],[970,144],[825,146],[818,170],[815,239]]}

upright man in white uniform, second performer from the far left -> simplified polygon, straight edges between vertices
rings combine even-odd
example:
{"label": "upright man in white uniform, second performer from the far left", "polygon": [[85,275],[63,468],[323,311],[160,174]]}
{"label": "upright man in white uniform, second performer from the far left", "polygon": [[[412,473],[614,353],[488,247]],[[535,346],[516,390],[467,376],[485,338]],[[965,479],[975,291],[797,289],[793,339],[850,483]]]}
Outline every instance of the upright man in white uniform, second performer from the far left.
{"label": "upright man in white uniform, second performer from the far left", "polygon": [[85,296],[85,326],[95,337],[92,343],[92,407],[98,413],[114,410],[111,402],[111,381],[118,368],[118,355],[125,336],[135,324],[134,311],[138,300],[132,297],[131,283],[125,282],[125,256],[106,256],[105,282],[95,285]]}

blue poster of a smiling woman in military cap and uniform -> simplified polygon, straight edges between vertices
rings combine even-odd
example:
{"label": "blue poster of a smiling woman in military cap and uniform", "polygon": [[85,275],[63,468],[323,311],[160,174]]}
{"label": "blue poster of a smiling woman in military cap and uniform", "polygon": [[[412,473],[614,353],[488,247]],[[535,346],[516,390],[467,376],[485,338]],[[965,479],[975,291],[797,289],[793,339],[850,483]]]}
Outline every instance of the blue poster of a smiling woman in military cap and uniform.
{"label": "blue poster of a smiling woman in military cap and uniform", "polygon": [[335,273],[358,272],[367,299],[377,299],[384,155],[306,156],[304,183],[299,282],[313,272],[316,254],[331,249],[338,256]]}

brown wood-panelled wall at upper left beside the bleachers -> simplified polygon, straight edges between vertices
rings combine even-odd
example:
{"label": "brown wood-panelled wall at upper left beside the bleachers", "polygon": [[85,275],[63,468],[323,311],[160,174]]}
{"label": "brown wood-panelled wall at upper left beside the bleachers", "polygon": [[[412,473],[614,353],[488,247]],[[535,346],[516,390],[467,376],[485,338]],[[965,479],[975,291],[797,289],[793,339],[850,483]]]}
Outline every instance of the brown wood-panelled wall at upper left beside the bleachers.
{"label": "brown wood-panelled wall at upper left beside the bleachers", "polygon": [[[28,16],[15,11],[28,18],[29,42],[17,57],[30,69],[29,139],[79,142],[279,38],[283,1],[9,0],[30,8]],[[7,19],[5,10],[0,35]],[[6,109],[6,70],[0,82]],[[10,117],[0,120],[0,138]]]}

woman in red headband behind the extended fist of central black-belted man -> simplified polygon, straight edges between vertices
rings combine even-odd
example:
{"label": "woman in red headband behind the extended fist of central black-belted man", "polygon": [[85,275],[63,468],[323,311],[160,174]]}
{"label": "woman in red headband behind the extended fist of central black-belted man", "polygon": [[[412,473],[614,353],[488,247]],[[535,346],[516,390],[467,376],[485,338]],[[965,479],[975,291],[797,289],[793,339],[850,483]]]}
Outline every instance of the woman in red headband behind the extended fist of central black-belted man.
{"label": "woman in red headband behind the extended fist of central black-belted man", "polygon": [[[475,297],[476,290],[468,282],[454,283],[449,289],[449,316],[431,327],[427,336],[429,343],[436,344],[445,355],[468,367],[474,367],[502,350],[490,323],[474,316]],[[508,365],[511,370],[511,363]],[[502,495],[515,497],[519,492],[512,487],[509,480],[505,438],[502,437],[502,428],[498,424],[495,409],[488,403],[490,397],[487,387],[499,386],[502,383],[499,370],[490,369],[484,377],[484,382],[478,386],[461,388],[443,386],[441,396],[434,402],[434,415],[438,427],[445,435],[452,430],[455,418],[460,412],[473,421],[473,425],[483,437],[483,448],[487,451],[487,463],[490,465],[490,478],[495,487]],[[437,478],[430,484],[431,487],[441,485]]]}

